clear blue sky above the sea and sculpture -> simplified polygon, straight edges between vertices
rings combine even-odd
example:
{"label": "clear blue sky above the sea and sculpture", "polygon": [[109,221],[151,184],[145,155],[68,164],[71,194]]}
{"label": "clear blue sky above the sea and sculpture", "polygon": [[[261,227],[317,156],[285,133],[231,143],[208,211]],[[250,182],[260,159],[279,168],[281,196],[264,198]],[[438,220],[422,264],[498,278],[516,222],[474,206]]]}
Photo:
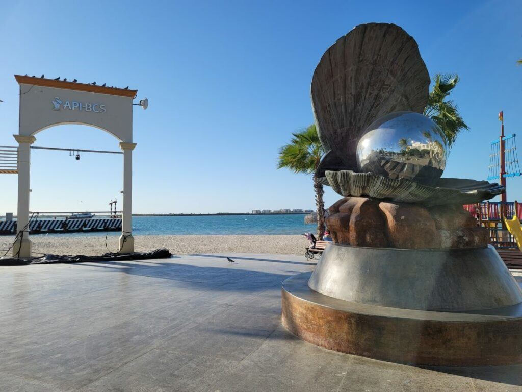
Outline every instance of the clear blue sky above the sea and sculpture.
{"label": "clear blue sky above the sea and sculpture", "polygon": [[[445,177],[485,179],[490,142],[522,132],[522,2],[0,2],[0,144],[15,145],[14,74],[137,88],[136,213],[312,208],[311,178],[276,170],[278,148],[313,122],[312,73],[355,25],[393,22],[418,42],[430,75],[461,77],[453,98],[471,131]],[[520,134],[522,136],[522,133]],[[64,125],[34,145],[117,149],[109,134]],[[519,138],[522,149],[522,137]],[[32,151],[31,210],[106,209],[120,197],[119,155]],[[16,212],[0,175],[0,214]],[[326,204],[339,196],[328,189]],[[508,180],[522,200],[522,178]]]}

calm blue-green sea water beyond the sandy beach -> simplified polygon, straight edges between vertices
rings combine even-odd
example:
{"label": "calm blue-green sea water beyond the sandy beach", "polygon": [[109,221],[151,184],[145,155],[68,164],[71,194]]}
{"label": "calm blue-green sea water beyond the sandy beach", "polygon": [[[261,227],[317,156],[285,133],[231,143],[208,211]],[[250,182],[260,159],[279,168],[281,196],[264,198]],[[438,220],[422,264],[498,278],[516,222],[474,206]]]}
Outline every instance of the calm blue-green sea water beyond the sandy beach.
{"label": "calm blue-green sea water beyond the sandy beach", "polygon": [[[304,224],[305,214],[219,216],[133,216],[134,235],[192,234],[303,234],[315,224]],[[107,232],[38,234],[39,236],[105,236]],[[109,232],[120,235],[120,232]]]}

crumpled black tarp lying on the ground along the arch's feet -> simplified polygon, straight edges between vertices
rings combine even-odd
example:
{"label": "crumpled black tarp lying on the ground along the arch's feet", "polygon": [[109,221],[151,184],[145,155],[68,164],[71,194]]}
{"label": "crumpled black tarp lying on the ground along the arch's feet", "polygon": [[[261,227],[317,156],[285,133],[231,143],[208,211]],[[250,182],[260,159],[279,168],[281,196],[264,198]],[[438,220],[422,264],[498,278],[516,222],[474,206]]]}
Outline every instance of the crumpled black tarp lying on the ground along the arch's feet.
{"label": "crumpled black tarp lying on the ground along the arch's feet", "polygon": [[104,253],[101,256],[84,256],[84,255],[45,255],[42,257],[34,257],[28,260],[16,257],[0,257],[0,266],[27,266],[29,264],[51,264],[51,263],[86,263],[86,262],[103,262],[103,261],[129,261],[129,260],[147,260],[147,259],[168,259],[172,256],[169,249],[161,248],[143,253]]}

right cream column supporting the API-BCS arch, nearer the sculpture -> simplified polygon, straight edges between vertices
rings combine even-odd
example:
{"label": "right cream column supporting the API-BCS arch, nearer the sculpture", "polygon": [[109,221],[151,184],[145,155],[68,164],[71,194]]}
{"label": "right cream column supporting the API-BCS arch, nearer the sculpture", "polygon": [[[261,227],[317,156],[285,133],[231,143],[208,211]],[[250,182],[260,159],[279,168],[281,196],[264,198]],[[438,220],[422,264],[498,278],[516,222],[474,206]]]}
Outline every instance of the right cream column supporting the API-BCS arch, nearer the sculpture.
{"label": "right cream column supporting the API-BCS arch, nearer the sculpture", "polygon": [[123,150],[123,211],[120,253],[134,252],[132,236],[132,151],[136,143],[120,143]]}

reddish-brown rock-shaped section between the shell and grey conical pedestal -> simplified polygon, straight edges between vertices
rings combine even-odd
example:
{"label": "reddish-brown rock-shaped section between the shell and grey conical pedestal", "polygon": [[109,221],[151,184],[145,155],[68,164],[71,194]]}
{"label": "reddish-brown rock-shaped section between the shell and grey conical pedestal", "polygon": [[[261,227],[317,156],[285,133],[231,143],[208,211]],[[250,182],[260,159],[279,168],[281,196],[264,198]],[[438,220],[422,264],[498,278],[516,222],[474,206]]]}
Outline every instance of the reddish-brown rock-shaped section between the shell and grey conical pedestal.
{"label": "reddish-brown rock-shaped section between the shell and grey conical pedestal", "polygon": [[342,245],[401,249],[485,247],[489,235],[461,205],[425,207],[347,197],[328,209],[326,224]]}

